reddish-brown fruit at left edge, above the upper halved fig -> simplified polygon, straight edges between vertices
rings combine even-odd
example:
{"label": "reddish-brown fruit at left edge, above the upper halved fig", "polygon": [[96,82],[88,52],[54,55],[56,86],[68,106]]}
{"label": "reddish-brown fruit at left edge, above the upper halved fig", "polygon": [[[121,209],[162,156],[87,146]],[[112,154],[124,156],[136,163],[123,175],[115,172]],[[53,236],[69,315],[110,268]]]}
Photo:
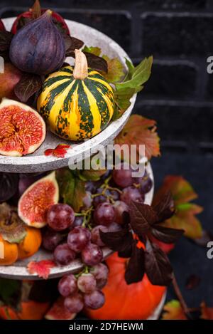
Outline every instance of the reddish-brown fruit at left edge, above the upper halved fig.
{"label": "reddish-brown fruit at left edge, above the upper halved fig", "polygon": [[12,98],[13,100],[17,100],[14,87],[22,75],[23,73],[13,66],[12,63],[4,64],[4,73],[0,74],[0,99]]}

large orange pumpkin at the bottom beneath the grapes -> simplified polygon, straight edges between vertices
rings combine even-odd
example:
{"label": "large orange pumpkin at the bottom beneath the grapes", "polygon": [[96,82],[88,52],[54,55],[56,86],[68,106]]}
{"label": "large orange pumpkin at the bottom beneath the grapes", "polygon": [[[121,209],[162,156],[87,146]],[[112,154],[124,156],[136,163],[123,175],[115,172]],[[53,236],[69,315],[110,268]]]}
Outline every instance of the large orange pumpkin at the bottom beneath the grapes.
{"label": "large orange pumpkin at the bottom beneath the grapes", "polygon": [[160,303],[165,287],[153,286],[144,275],[143,280],[130,285],[124,279],[126,259],[113,254],[107,260],[109,280],[103,289],[106,303],[98,310],[85,310],[89,318],[104,320],[146,319]]}

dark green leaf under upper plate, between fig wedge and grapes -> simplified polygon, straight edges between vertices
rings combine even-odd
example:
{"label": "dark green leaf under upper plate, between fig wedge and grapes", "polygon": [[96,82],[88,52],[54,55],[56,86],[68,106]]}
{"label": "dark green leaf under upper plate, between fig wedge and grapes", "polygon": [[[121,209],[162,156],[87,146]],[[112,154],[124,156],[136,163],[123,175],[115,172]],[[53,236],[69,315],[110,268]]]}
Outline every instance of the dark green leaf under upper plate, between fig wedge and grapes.
{"label": "dark green leaf under upper plate, between fig wedge and grapes", "polygon": [[64,203],[69,204],[75,212],[80,212],[86,195],[85,182],[70,169],[59,169],[56,175]]}

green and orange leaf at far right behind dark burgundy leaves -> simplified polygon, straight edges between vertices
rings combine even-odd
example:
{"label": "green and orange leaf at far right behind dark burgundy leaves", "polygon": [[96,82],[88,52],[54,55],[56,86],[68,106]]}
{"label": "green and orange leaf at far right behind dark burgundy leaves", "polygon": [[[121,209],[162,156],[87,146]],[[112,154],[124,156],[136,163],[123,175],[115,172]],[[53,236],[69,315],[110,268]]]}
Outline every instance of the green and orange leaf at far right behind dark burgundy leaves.
{"label": "green and orange leaf at far right behind dark burgundy leaves", "polygon": [[202,237],[202,225],[196,215],[202,212],[202,207],[190,203],[192,199],[197,198],[195,190],[183,177],[168,175],[165,177],[158,192],[155,193],[153,199],[154,206],[159,198],[162,197],[162,194],[168,190],[171,192],[174,200],[175,214],[169,219],[165,219],[164,226],[183,229],[185,236],[199,240]]}

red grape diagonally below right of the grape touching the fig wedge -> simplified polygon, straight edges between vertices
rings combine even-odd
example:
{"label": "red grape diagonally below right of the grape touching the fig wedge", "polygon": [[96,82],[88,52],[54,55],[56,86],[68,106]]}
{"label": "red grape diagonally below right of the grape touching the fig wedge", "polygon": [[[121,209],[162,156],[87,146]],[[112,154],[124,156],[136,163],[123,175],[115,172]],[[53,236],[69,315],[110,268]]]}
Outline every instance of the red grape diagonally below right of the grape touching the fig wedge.
{"label": "red grape diagonally below right of the grape touching the fig wedge", "polygon": [[88,229],[82,226],[76,226],[67,237],[67,244],[72,251],[80,253],[91,239],[91,233]]}

